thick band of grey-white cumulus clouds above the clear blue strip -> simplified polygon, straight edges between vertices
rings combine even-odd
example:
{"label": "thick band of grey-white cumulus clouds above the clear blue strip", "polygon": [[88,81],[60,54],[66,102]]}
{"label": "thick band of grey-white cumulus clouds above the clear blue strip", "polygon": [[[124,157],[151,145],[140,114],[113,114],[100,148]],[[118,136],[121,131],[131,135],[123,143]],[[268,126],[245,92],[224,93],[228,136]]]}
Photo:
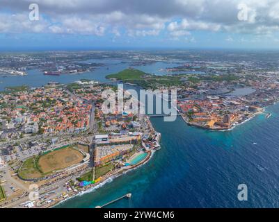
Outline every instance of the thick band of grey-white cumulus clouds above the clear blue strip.
{"label": "thick band of grey-white cumulus clouds above the clear blue strip", "polygon": [[[43,15],[28,20],[29,4],[38,3]],[[238,15],[245,4],[247,19]],[[173,37],[192,31],[270,35],[279,31],[276,0],[1,0],[0,32],[81,33],[102,36],[119,28],[129,36]],[[12,17],[12,12],[15,17]],[[45,19],[44,19],[45,18]],[[13,21],[12,21],[13,20]]]}

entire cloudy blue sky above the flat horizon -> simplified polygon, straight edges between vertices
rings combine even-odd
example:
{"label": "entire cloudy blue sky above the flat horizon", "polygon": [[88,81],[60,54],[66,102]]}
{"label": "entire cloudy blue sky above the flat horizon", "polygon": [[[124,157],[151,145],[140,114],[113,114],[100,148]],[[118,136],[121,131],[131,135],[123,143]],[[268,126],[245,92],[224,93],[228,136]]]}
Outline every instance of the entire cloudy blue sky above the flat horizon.
{"label": "entire cloudy blue sky above the flat horizon", "polygon": [[278,0],[0,0],[0,51],[279,49],[278,34]]}

